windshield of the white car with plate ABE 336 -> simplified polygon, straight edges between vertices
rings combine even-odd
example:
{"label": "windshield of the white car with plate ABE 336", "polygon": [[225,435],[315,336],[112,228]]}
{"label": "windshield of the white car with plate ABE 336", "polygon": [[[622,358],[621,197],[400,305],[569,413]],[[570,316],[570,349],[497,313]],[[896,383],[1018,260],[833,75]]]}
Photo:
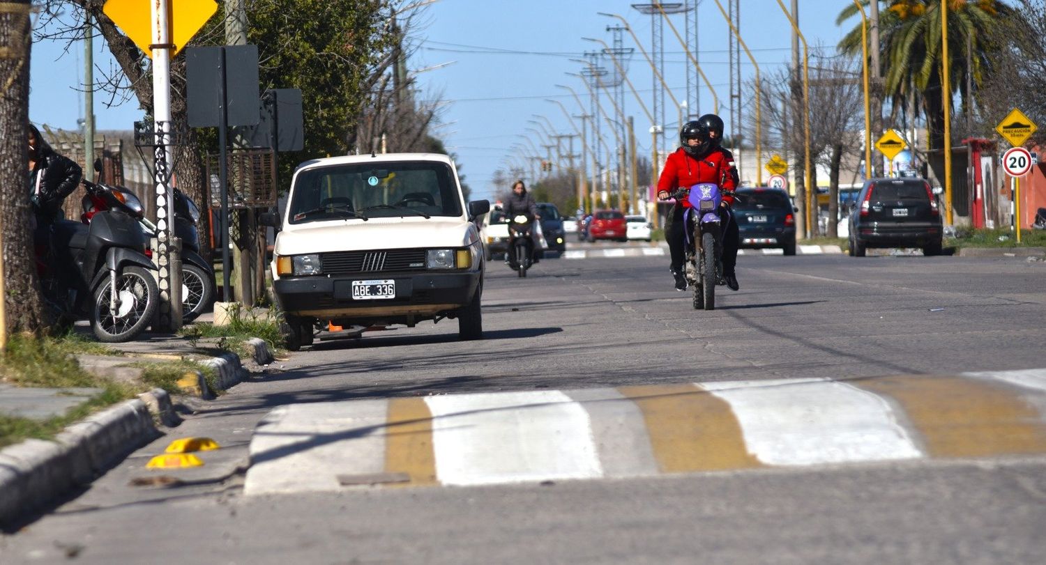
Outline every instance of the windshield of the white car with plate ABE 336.
{"label": "windshield of the white car with plate ABE 336", "polygon": [[446,163],[404,161],[316,167],[298,173],[290,222],[401,216],[460,216]]}

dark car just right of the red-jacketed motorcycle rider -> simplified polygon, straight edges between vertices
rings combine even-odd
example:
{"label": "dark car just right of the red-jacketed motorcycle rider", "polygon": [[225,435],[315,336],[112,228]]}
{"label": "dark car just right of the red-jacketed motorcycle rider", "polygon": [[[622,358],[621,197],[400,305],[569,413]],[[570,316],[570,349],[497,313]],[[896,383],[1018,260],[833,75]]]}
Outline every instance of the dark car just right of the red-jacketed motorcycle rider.
{"label": "dark car just right of the red-jacketed motorcycle rider", "polygon": [[781,249],[795,255],[795,212],[780,188],[751,187],[735,191],[733,217],[742,249]]}

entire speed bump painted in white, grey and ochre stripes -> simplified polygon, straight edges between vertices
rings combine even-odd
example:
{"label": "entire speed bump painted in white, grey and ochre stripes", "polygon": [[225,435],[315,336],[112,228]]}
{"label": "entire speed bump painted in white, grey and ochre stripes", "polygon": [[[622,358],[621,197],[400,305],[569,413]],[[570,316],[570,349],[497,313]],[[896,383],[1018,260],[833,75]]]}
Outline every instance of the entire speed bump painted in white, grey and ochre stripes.
{"label": "entire speed bump painted in white, grey and ochre stripes", "polygon": [[250,453],[252,495],[1046,454],[1046,370],[293,404]]}

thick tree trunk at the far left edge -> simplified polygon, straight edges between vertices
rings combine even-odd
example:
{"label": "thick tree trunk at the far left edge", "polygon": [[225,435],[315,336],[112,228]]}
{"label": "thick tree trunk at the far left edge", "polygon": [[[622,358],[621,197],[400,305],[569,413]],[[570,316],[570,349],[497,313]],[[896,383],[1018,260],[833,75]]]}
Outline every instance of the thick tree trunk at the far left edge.
{"label": "thick tree trunk at the far left edge", "polygon": [[[0,230],[3,299],[10,333],[40,334],[47,326],[29,229],[29,1],[0,13]],[[21,7],[21,6],[19,6]],[[3,323],[4,321],[0,321]]]}

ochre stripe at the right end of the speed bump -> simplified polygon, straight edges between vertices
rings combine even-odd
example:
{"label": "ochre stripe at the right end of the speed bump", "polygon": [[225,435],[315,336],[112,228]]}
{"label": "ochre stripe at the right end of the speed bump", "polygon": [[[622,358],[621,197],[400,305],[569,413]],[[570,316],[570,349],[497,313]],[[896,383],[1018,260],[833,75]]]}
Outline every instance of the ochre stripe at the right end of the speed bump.
{"label": "ochre stripe at the right end of the speed bump", "polygon": [[846,382],[895,399],[932,457],[1046,453],[1042,416],[1003,385],[926,375]]}

